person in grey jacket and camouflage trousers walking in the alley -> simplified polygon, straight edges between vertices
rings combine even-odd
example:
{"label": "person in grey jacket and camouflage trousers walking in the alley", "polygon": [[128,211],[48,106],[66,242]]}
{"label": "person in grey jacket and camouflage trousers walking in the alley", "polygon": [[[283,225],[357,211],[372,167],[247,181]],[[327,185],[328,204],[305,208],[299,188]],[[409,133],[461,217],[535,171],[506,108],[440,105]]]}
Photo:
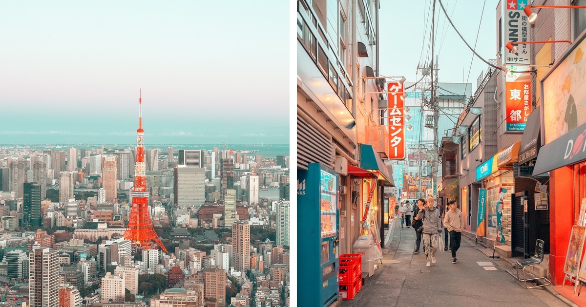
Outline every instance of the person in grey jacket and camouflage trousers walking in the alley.
{"label": "person in grey jacket and camouflage trousers walking in the alley", "polygon": [[440,211],[434,207],[433,202],[428,201],[425,209],[417,213],[417,219],[423,219],[423,245],[427,260],[425,266],[431,267],[435,263],[435,252],[438,250],[438,234],[442,232]]}

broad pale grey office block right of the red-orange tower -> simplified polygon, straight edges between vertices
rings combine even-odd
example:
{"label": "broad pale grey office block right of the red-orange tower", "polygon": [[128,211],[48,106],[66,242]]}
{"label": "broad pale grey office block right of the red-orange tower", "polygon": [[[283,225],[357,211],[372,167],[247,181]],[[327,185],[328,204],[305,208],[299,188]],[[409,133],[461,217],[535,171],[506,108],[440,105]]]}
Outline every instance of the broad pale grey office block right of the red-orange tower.
{"label": "broad pale grey office block right of the red-orange tower", "polygon": [[200,167],[176,167],[175,199],[177,206],[200,207],[206,201],[205,169]]}

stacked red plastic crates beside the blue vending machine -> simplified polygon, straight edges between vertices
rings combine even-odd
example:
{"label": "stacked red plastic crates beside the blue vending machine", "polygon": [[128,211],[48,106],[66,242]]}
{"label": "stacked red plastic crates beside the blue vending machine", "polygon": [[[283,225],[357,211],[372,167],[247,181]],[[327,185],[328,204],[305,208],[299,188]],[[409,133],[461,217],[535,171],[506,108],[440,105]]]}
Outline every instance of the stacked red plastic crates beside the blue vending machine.
{"label": "stacked red plastic crates beside the blue vending machine", "polygon": [[362,289],[362,254],[340,255],[338,281],[342,299],[353,299]]}

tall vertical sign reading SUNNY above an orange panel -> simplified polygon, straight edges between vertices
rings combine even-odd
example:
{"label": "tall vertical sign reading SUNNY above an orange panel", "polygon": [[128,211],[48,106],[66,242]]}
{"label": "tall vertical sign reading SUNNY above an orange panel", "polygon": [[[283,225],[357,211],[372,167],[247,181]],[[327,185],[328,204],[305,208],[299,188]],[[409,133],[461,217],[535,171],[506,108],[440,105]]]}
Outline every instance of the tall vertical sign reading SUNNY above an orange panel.
{"label": "tall vertical sign reading SUNNY above an orange panel", "polygon": [[508,42],[530,42],[531,25],[523,9],[527,0],[507,0],[503,2],[503,60],[510,72],[505,73],[505,116],[506,132],[523,132],[527,117],[531,113],[531,44],[516,44],[513,53],[504,46]]}

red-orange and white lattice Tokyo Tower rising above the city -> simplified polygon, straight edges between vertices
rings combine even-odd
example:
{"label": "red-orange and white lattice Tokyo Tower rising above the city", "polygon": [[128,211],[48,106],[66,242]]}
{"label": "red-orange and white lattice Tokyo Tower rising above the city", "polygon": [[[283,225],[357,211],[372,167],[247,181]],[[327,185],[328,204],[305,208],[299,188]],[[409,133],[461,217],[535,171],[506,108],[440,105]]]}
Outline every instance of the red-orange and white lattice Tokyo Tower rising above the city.
{"label": "red-orange and white lattice Tokyo Tower rising above the city", "polygon": [[130,240],[132,244],[139,244],[143,250],[151,249],[151,240],[165,253],[167,249],[152,227],[151,216],[148,212],[147,177],[145,176],[145,149],[144,130],[142,130],[142,98],[138,98],[138,129],[137,129],[137,157],[134,168],[134,188],[130,192],[132,196],[132,209],[128,227],[124,232],[124,240]]}

